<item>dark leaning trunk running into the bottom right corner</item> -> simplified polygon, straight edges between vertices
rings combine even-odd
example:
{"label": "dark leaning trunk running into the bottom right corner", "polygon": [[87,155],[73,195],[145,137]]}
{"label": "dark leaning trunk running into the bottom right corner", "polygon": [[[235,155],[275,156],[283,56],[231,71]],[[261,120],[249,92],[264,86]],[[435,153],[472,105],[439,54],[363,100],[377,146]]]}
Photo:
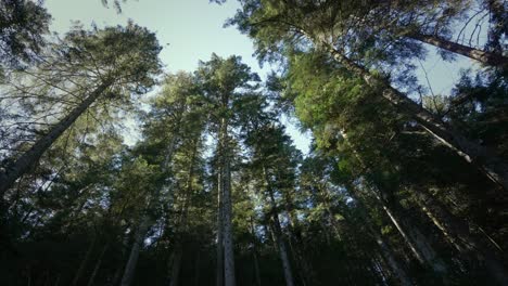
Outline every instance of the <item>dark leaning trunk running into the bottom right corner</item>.
{"label": "dark leaning trunk running into the bottom right corner", "polygon": [[423,212],[441,230],[445,238],[459,253],[468,259],[478,261],[480,264],[484,264],[491,276],[499,285],[508,285],[508,273],[504,263],[495,251],[469,232],[467,222],[449,213],[441,203],[427,194],[426,191],[414,188],[414,193]]}

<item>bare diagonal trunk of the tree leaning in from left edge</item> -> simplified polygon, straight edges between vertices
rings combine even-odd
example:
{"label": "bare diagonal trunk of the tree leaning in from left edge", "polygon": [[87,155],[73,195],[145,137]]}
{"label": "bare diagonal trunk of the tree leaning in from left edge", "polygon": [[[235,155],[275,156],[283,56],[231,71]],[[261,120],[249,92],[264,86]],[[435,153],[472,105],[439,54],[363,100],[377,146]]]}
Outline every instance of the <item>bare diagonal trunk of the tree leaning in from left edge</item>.
{"label": "bare diagonal trunk of the tree leaning in from left edge", "polygon": [[67,130],[76,119],[90,107],[90,105],[109,88],[110,83],[97,87],[87,99],[85,99],[67,116],[60,120],[48,134],[37,142],[10,166],[2,166],[0,170],[0,197],[12,187],[14,182],[26,173],[45,154],[45,152]]}

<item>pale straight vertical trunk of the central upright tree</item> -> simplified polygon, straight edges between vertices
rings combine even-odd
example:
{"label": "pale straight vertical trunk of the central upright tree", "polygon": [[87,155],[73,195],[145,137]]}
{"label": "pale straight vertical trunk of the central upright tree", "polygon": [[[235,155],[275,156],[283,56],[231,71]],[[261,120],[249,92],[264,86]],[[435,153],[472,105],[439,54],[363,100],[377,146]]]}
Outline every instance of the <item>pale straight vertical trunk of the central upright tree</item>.
{"label": "pale straight vertical trunk of the central upright tree", "polygon": [[232,202],[231,202],[231,151],[229,145],[228,122],[221,118],[219,127],[219,146],[221,159],[221,184],[223,190],[223,219],[224,219],[224,282],[225,286],[234,286],[234,251],[232,235]]}

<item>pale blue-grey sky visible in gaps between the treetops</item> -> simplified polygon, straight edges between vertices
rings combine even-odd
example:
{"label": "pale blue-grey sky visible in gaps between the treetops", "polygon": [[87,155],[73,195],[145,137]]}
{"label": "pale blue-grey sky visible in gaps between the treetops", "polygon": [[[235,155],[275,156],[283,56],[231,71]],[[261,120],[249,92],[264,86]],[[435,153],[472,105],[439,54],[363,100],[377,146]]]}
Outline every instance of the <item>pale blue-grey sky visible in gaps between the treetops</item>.
{"label": "pale blue-grey sky visible in gaps between the treetops", "polygon": [[[112,0],[110,0],[112,1]],[[98,27],[106,25],[125,25],[129,18],[141,26],[155,31],[164,47],[161,60],[165,70],[192,72],[199,61],[207,61],[212,53],[227,57],[240,55],[253,72],[265,78],[269,66],[262,68],[253,56],[253,43],[234,27],[224,28],[225,21],[232,16],[239,4],[234,0],[223,5],[211,4],[208,0],[128,0],[122,4],[122,14],[115,9],[105,8],[101,0],[46,0],[46,6],[53,16],[51,30],[65,34],[79,21],[85,27],[92,24]],[[449,94],[454,82],[459,78],[460,68],[471,66],[466,58],[453,63],[441,60],[434,50],[430,50],[422,68],[417,70],[420,81],[427,86],[424,72],[435,94]],[[283,119],[288,133],[304,154],[308,152],[310,135],[302,133],[294,123]],[[136,138],[127,136],[130,142]]]}

